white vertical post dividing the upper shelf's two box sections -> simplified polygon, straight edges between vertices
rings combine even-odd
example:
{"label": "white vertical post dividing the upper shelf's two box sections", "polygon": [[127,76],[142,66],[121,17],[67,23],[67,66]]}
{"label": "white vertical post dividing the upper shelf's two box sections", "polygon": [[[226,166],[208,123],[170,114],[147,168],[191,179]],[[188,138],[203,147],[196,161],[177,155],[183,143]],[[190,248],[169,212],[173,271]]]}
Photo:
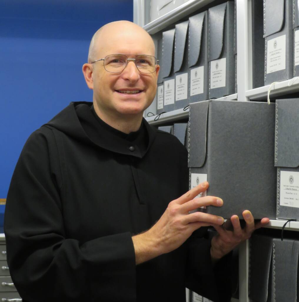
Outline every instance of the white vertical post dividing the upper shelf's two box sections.
{"label": "white vertical post dividing the upper shelf's two box sections", "polygon": [[249,101],[245,92],[252,89],[251,0],[237,3],[237,84],[238,100]]}

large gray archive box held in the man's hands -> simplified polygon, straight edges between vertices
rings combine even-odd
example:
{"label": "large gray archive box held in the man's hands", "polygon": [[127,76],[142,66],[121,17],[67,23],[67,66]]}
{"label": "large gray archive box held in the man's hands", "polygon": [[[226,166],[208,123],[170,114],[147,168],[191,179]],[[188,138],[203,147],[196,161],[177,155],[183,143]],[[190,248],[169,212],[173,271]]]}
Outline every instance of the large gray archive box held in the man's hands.
{"label": "large gray archive box held in the man's hands", "polygon": [[222,207],[206,211],[225,219],[276,218],[274,167],[275,104],[209,100],[190,104],[188,167],[190,188],[208,181],[208,195]]}

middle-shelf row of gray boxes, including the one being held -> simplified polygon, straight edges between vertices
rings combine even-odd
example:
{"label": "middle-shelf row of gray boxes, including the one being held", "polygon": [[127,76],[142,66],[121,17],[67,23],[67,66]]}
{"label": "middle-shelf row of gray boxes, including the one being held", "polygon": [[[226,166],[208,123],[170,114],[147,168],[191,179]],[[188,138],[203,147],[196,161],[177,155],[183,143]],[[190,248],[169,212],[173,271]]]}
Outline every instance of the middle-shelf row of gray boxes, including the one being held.
{"label": "middle-shelf row of gray boxes, including the one being held", "polygon": [[298,124],[299,99],[209,100],[190,104],[187,126],[160,129],[185,142],[190,188],[208,181],[207,194],[223,199],[208,213],[299,220]]}

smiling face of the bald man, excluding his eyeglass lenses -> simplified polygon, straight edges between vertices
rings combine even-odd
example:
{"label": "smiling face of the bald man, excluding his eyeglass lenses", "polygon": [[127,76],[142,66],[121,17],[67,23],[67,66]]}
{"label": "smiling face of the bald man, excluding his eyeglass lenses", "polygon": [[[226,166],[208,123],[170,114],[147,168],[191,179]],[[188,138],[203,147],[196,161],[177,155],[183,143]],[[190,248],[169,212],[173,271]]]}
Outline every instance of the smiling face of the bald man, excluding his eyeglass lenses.
{"label": "smiling face of the bald man, excluding his eyeglass lenses", "polygon": [[[111,54],[126,54],[135,58],[136,54],[155,56],[151,37],[138,25],[128,21],[118,21],[105,25],[94,41],[91,61]],[[88,65],[88,72],[84,66]],[[89,88],[93,89],[93,102],[101,115],[111,118],[141,117],[152,103],[157,89],[159,66],[153,73],[141,73],[134,61],[128,61],[122,72],[107,72],[103,61],[84,64],[83,73]],[[101,116],[100,116],[101,117]],[[105,120],[105,118],[104,118]]]}

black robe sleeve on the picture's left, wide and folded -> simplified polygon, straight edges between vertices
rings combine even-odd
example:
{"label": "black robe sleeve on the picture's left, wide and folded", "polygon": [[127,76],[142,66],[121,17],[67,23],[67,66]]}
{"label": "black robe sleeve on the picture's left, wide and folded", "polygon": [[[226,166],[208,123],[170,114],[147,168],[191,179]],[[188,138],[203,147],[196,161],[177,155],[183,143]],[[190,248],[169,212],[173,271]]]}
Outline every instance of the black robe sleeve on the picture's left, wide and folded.
{"label": "black robe sleeve on the picture's left, wide and folded", "polygon": [[131,233],[83,243],[67,238],[64,188],[53,158],[58,153],[52,131],[37,130],[27,140],[11,180],[4,230],[17,291],[30,302],[134,301]]}

